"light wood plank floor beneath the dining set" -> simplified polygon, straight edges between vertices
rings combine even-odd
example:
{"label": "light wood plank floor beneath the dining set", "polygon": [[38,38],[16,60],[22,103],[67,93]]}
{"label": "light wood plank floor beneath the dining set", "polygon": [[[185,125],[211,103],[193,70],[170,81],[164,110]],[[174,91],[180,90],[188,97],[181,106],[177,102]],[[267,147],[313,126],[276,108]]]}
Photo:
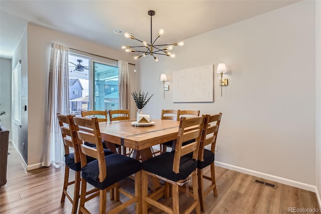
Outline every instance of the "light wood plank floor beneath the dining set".
{"label": "light wood plank floor beneath the dining set", "polygon": [[[0,188],[0,213],[70,213],[69,200],[66,198],[65,203],[60,203],[64,167],[51,166],[27,172],[15,149],[10,146],[9,151],[11,155],[8,156],[8,182]],[[213,194],[206,197],[206,213],[291,213],[288,211],[289,207],[315,207],[319,210],[313,192],[220,167],[215,169],[218,197],[214,197]],[[276,188],[254,183],[255,179],[275,184]],[[124,180],[121,185],[133,191],[132,180]],[[120,200],[125,199],[121,197]],[[171,204],[171,198],[161,200],[167,205]],[[190,200],[191,197],[180,194],[181,207],[189,204]],[[108,207],[117,203],[119,202],[107,200]],[[88,202],[88,209],[97,213],[98,198]],[[155,207],[148,211],[163,213]],[[129,206],[121,213],[134,213],[134,206]]]}

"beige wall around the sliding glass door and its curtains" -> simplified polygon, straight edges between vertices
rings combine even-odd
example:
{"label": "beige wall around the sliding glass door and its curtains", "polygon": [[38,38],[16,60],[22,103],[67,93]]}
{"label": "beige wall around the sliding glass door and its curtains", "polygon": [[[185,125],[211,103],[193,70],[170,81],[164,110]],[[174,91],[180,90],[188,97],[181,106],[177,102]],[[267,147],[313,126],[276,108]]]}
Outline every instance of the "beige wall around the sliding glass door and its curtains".
{"label": "beige wall around the sliding glass door and its curtains", "polygon": [[[133,63],[129,55],[75,36],[46,28],[27,25],[28,35],[28,169],[41,166],[46,142],[46,110],[50,47],[53,42],[77,50]],[[15,58],[15,57],[14,57]],[[129,66],[131,88],[136,89],[136,75]],[[132,103],[132,112],[135,111]]]}

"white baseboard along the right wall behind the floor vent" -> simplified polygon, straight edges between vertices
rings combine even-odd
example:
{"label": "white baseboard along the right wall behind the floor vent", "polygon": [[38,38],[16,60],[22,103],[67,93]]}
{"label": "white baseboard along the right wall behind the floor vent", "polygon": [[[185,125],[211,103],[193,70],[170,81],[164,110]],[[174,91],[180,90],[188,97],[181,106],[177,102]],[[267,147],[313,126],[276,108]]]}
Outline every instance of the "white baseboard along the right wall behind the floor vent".
{"label": "white baseboard along the right wall behind the floor vent", "polygon": [[[311,191],[311,192],[315,192],[315,193],[317,192],[316,186],[313,186],[313,185],[310,185],[310,184],[306,184],[306,183],[302,183],[302,182],[298,182],[298,181],[295,181],[295,180],[290,180],[290,179],[287,179],[287,178],[282,178],[282,177],[278,177],[278,176],[275,176],[275,175],[270,175],[270,174],[254,171],[254,170],[251,170],[251,169],[246,169],[246,168],[242,168],[242,167],[238,167],[238,166],[234,166],[234,165],[218,162],[218,161],[215,161],[215,165],[219,166],[219,167],[226,168],[226,169],[231,169],[231,170],[234,170],[234,171],[237,171],[237,172],[242,172],[242,173],[245,173],[245,174],[249,174],[249,175],[253,175],[253,176],[256,176],[256,177],[264,178],[264,179],[267,179],[267,180],[275,181],[275,182],[278,182],[278,183],[286,184],[286,185],[289,185],[289,186],[294,186],[296,188],[305,189],[305,190],[308,190],[308,191]],[[320,201],[319,195],[318,195],[318,200]]]}

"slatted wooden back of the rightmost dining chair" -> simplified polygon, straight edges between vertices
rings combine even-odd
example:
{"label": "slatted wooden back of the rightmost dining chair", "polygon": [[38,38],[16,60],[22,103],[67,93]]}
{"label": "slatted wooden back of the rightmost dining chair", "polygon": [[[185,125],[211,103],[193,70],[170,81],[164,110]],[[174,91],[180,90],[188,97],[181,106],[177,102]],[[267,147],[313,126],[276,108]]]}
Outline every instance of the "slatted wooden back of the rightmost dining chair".
{"label": "slatted wooden back of the rightmost dining chair", "polygon": [[211,144],[211,151],[215,153],[215,144],[217,133],[219,131],[219,126],[222,118],[222,113],[215,115],[203,115],[205,118],[203,132],[201,137],[201,144],[198,159],[204,161],[204,148]]}

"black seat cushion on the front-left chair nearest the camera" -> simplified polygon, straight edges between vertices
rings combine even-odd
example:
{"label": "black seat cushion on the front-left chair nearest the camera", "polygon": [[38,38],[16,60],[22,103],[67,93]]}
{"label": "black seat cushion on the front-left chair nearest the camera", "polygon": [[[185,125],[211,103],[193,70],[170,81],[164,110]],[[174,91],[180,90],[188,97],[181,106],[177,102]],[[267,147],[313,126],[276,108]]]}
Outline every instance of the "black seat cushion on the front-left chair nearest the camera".
{"label": "black seat cushion on the front-left chair nearest the camera", "polygon": [[81,176],[91,185],[105,189],[106,187],[140,171],[141,163],[133,158],[120,154],[105,156],[107,176],[103,182],[98,181],[98,160],[88,163],[81,169]]}

